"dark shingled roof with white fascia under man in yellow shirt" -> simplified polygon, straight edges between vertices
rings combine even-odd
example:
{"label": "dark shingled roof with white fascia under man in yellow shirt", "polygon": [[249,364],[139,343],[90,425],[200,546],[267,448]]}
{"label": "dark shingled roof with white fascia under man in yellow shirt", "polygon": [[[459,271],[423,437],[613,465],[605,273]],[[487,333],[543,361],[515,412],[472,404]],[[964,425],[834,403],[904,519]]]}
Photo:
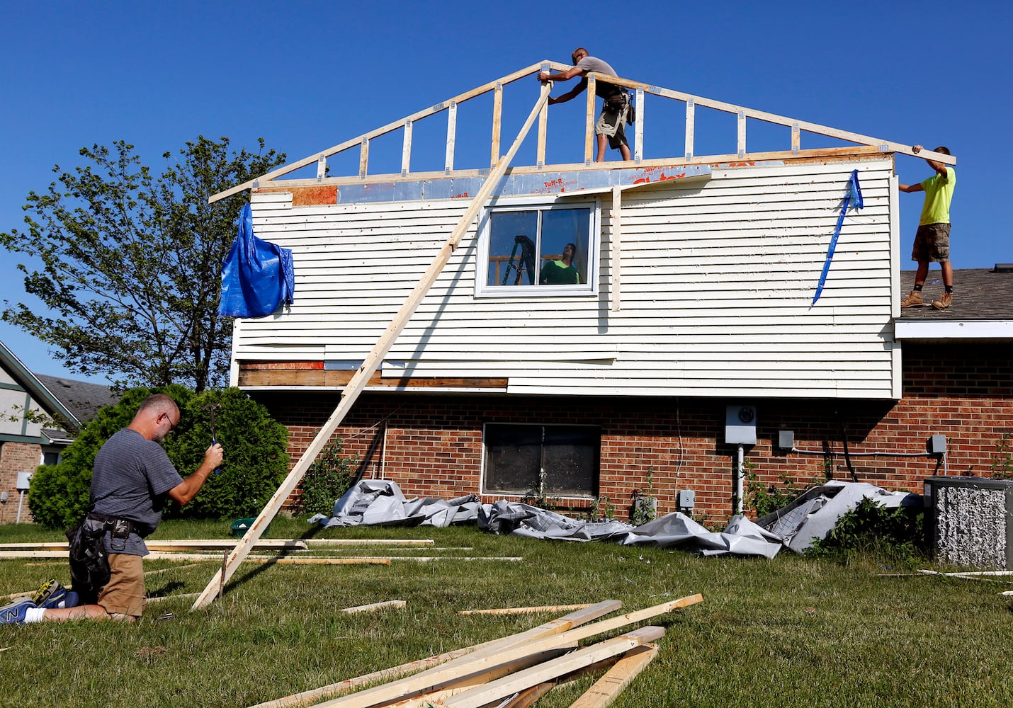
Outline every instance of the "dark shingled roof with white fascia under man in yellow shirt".
{"label": "dark shingled roof with white fascia under man in yellow shirt", "polygon": [[[901,272],[901,297],[915,284],[915,271]],[[1013,338],[1013,265],[961,268],[953,271],[953,304],[936,310],[930,304],[943,291],[939,270],[932,266],[925,282],[925,305],[901,310],[898,339]]]}

